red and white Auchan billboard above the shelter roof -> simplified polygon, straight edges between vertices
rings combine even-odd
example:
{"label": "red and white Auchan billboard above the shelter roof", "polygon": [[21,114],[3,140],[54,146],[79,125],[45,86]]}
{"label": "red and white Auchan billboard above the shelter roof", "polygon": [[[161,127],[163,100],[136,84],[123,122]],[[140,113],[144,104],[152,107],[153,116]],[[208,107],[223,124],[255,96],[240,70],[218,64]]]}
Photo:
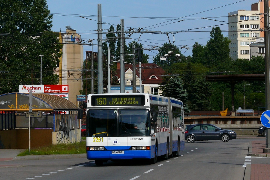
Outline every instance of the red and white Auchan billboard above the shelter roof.
{"label": "red and white Auchan billboard above the shelter roof", "polygon": [[29,93],[67,93],[68,85],[19,85],[19,92]]}

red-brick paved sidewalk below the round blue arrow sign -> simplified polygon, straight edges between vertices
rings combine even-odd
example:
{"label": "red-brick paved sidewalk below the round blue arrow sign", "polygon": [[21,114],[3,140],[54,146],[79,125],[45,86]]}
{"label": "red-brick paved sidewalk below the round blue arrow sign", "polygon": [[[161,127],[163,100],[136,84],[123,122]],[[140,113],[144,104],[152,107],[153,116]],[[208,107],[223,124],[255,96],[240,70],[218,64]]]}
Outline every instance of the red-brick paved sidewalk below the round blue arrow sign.
{"label": "red-brick paved sidewalk below the round blue arrow sign", "polygon": [[[264,153],[265,140],[251,141],[248,147],[248,156],[270,157],[270,153]],[[244,180],[270,180],[269,164],[247,164]]]}

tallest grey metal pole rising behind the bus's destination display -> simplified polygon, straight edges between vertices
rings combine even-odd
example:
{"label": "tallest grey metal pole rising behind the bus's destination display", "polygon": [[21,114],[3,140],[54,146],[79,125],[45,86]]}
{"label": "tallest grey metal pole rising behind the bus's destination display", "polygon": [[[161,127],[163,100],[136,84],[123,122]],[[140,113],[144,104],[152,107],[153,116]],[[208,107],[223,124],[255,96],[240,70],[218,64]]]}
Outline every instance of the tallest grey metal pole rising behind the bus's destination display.
{"label": "tallest grey metal pole rising behind the bus's destination display", "polygon": [[101,14],[101,4],[98,4],[98,94],[103,94],[102,14]]}

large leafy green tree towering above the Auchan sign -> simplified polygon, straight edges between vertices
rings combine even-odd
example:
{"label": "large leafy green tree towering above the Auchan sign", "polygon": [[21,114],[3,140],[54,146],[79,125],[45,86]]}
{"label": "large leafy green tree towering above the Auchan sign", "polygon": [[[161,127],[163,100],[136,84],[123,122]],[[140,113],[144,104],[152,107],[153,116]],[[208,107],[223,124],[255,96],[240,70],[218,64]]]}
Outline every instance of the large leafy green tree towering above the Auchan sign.
{"label": "large leafy green tree towering above the Auchan sign", "polygon": [[[10,8],[12,7],[12,9]],[[58,33],[51,31],[46,0],[0,2],[0,94],[18,92],[19,84],[40,84],[40,54],[43,84],[57,84],[54,73],[61,57]]]}

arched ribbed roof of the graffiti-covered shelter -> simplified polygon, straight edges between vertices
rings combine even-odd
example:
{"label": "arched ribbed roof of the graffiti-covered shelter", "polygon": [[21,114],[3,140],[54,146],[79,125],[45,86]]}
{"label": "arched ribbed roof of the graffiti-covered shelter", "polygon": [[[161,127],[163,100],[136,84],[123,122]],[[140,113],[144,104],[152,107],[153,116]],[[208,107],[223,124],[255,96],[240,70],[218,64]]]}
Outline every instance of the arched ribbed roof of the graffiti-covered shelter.
{"label": "arched ribbed roof of the graffiti-covered shelter", "polygon": [[[75,104],[55,95],[33,93],[33,111],[78,110]],[[28,93],[0,95],[0,111],[29,111]]]}

